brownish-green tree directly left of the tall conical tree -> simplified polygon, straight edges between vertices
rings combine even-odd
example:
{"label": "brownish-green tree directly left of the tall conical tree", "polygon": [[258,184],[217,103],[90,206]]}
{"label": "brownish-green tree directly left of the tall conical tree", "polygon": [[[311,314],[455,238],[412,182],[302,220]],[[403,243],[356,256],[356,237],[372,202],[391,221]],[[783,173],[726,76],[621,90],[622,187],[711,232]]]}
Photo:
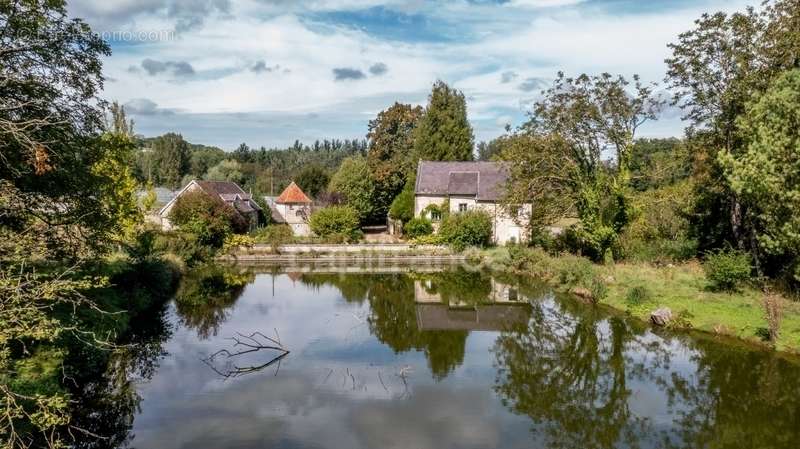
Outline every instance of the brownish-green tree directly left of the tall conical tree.
{"label": "brownish-green tree directly left of the tall conical tree", "polygon": [[392,201],[416,168],[414,130],[421,116],[421,107],[395,103],[369,122],[367,163],[375,181],[376,215],[389,212]]}

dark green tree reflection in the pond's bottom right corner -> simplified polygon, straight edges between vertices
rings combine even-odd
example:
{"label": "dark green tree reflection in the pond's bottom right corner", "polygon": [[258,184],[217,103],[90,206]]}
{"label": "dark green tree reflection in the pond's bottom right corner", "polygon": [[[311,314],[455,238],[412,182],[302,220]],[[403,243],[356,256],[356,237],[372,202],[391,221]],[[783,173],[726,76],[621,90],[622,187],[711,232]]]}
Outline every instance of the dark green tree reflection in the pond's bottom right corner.
{"label": "dark green tree reflection in the pond's bottom right corner", "polygon": [[780,354],[681,338],[696,371],[665,379],[675,420],[665,447],[796,448],[800,367]]}

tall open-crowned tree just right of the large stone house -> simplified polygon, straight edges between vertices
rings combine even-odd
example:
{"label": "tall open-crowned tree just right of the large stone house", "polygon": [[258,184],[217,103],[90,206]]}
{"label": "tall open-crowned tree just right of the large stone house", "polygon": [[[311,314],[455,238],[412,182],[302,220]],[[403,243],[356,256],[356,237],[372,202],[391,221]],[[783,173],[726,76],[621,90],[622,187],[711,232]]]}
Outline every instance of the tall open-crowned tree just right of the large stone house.
{"label": "tall open-crowned tree just right of the large stone house", "polygon": [[[532,152],[517,150],[508,157],[513,161],[511,183],[517,185],[509,199],[528,202],[522,201],[526,191],[530,197],[547,198],[534,202],[534,217],[564,215],[575,204],[580,226],[574,231],[581,251],[596,260],[611,256],[631,219],[630,159],[636,131],[655,119],[662,106],[652,89],[638,76],[631,85],[608,73],[577,78],[559,73],[522,127],[534,137]],[[604,159],[608,151],[612,160]],[[532,183],[526,172],[544,181],[542,186]]]}

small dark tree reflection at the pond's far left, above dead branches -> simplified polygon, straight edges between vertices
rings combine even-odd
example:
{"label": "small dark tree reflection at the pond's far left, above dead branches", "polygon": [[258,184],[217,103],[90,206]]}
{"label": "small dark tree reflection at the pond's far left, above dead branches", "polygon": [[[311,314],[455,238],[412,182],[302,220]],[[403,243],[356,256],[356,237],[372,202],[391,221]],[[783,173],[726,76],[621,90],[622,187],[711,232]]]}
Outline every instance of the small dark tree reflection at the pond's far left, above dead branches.
{"label": "small dark tree reflection at the pond's far left, above dead branches", "polygon": [[197,331],[201,339],[217,335],[228,311],[255,274],[225,265],[205,265],[188,272],[175,296],[181,324]]}

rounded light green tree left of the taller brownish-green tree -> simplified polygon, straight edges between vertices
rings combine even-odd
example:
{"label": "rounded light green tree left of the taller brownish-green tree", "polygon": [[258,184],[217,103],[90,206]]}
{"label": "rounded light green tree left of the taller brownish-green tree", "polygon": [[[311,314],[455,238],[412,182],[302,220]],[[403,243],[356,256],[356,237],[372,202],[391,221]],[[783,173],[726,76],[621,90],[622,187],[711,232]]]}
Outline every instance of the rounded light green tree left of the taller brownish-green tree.
{"label": "rounded light green tree left of the taller brownish-green tree", "polygon": [[375,216],[373,197],[375,184],[370,176],[367,160],[363,157],[351,157],[342,162],[339,170],[331,178],[328,190],[344,196],[345,204],[358,213],[359,221],[364,224],[381,217]]}

